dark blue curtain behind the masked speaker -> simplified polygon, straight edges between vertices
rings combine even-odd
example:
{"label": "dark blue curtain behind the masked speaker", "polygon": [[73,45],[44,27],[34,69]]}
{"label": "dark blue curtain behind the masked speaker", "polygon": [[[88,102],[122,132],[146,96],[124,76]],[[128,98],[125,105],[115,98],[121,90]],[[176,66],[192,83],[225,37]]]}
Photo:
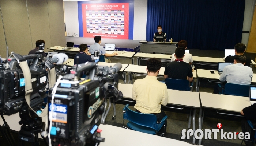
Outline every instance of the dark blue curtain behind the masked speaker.
{"label": "dark blue curtain behind the masked speaker", "polygon": [[162,25],[167,40],[189,49],[222,50],[241,42],[245,0],[148,0],[147,40]]}

